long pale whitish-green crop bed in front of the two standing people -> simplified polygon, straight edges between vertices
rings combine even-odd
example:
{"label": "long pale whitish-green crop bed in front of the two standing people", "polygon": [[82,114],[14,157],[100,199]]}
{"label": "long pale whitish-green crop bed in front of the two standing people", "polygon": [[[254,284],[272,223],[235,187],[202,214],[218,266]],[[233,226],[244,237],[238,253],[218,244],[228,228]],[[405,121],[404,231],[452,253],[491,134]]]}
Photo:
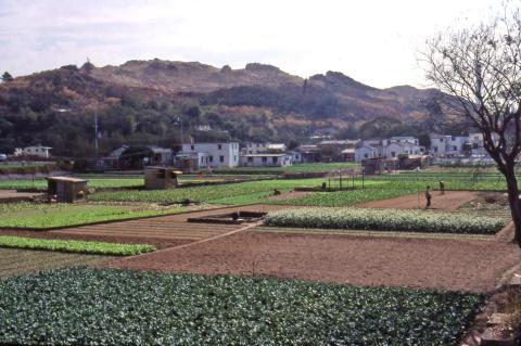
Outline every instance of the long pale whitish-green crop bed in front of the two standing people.
{"label": "long pale whitish-green crop bed in front of the two standing people", "polygon": [[266,226],[393,232],[494,234],[504,218],[405,209],[298,208],[269,213]]}

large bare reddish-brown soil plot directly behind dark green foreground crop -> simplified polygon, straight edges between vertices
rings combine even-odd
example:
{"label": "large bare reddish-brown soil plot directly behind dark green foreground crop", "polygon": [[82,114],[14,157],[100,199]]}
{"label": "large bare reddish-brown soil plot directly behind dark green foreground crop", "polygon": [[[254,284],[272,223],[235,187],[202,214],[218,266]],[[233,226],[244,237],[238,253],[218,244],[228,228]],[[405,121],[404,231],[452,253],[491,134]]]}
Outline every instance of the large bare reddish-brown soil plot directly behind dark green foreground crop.
{"label": "large bare reddish-brown soil plot directly behind dark green foreground crop", "polygon": [[486,292],[520,262],[508,241],[371,238],[244,231],[116,259],[143,270],[298,278],[353,285]]}

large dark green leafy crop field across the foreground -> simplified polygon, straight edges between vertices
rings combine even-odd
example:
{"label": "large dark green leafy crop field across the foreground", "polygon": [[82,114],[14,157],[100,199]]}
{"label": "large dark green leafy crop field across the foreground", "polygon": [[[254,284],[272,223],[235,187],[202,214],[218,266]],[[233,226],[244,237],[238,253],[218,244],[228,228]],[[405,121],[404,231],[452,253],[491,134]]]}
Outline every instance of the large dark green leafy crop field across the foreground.
{"label": "large dark green leafy crop field across the foreground", "polygon": [[0,281],[0,343],[455,345],[475,294],[71,268]]}

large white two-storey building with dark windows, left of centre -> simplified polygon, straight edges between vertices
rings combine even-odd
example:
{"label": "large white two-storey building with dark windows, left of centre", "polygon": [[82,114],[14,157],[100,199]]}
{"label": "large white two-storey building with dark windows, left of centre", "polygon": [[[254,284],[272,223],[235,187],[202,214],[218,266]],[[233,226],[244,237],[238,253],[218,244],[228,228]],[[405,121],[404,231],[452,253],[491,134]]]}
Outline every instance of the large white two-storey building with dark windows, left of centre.
{"label": "large white two-storey building with dark windows, left of centre", "polygon": [[239,143],[188,143],[182,144],[178,157],[196,157],[198,167],[239,166]]}

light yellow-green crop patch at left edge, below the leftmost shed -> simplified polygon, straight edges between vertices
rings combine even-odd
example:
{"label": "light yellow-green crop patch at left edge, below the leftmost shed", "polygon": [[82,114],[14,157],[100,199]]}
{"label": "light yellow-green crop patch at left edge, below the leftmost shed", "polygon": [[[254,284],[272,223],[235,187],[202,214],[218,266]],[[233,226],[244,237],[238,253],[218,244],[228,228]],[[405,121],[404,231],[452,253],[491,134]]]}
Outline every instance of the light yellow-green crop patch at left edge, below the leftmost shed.
{"label": "light yellow-green crop patch at left edge, below the leftmost shed", "polygon": [[180,207],[153,208],[105,204],[0,205],[0,228],[50,229],[180,213]]}

